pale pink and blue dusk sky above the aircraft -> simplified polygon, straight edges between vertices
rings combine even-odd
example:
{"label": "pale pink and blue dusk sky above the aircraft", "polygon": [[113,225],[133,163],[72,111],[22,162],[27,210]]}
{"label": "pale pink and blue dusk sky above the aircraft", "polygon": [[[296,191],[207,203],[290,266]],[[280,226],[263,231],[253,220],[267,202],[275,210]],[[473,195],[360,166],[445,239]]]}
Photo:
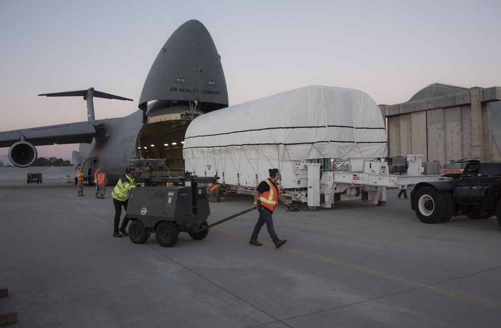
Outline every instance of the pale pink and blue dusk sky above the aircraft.
{"label": "pale pink and blue dusk sky above the aircraft", "polygon": [[[308,85],[359,89],[377,104],[408,101],[433,83],[501,86],[501,1],[0,0],[0,131],[137,110],[160,48],[196,19],[221,56],[229,104]],[[37,147],[71,158],[78,145]],[[5,155],[8,148],[0,148]]]}

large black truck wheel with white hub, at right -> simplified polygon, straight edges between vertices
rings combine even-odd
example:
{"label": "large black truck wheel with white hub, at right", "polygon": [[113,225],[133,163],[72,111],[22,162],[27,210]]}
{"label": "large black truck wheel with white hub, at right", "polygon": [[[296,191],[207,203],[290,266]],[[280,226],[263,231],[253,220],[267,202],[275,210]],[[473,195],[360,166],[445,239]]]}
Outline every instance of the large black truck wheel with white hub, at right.
{"label": "large black truck wheel with white hub, at right", "polygon": [[414,211],[424,223],[448,221],[454,212],[451,193],[439,192],[433,187],[419,189],[414,197]]}

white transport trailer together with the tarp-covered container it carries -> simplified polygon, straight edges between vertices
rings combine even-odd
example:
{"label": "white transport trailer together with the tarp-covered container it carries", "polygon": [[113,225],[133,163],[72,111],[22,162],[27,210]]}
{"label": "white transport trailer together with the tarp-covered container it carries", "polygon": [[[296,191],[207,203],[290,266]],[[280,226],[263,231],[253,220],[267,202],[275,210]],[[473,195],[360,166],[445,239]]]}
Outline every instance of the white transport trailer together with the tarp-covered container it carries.
{"label": "white transport trailer together with the tarp-covered container it carries", "polygon": [[278,168],[282,195],[309,209],[355,199],[384,204],[387,187],[443,179],[439,163],[422,163],[421,155],[390,163],[387,149],[385,121],[369,95],[308,86],[200,115],[186,130],[183,158],[193,175],[220,176],[223,190],[245,194]]}

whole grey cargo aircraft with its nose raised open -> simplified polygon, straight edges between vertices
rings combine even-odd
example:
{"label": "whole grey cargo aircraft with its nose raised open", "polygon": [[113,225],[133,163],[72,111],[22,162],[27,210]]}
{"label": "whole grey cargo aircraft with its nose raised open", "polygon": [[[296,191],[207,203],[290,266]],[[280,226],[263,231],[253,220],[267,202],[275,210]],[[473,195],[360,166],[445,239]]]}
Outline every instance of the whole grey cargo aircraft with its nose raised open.
{"label": "whole grey cargo aircraft with its nose raised open", "polygon": [[182,143],[189,123],[228,107],[220,57],[207,29],[196,20],[181,25],[162,47],[144,83],[139,110],[129,116],[96,120],[93,97],[131,99],[94,88],[39,96],[83,96],[88,121],[0,132],[0,147],[10,147],[15,166],[28,167],[37,159],[35,146],[80,143],[73,164],[82,167],[87,184],[95,167],[103,168],[112,183],[130,162],[142,166],[141,158],[156,166],[165,163],[171,174],[184,172]]}

